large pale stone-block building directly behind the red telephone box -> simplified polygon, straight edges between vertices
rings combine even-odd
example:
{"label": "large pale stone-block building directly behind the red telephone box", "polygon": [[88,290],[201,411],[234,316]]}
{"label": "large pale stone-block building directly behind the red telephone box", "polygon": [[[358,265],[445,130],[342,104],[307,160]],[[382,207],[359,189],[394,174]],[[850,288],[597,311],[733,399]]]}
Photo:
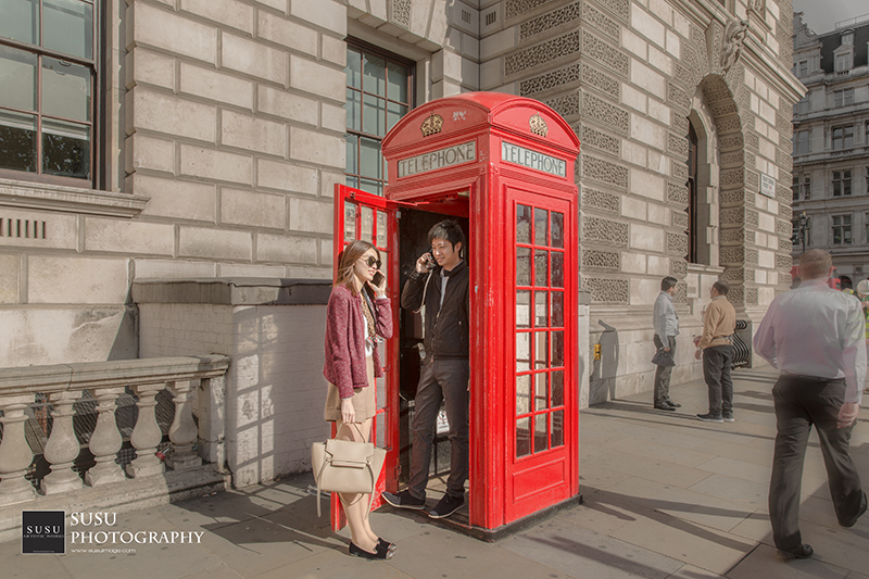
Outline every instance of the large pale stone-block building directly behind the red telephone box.
{"label": "large pale stone-block building directly behind the red telephone box", "polygon": [[[329,278],[333,187],[365,153],[347,147],[349,47],[406,65],[412,105],[504,91],[575,127],[583,404],[651,390],[662,277],[680,280],[675,381],[700,376],[690,338],[716,278],[750,322],[790,282],[791,108],[803,90],[791,0],[80,3],[65,29],[93,30],[89,59],[48,34],[22,38],[26,14],[0,25],[0,85],[25,70],[34,90],[54,90],[51,59],[91,75],[73,87],[88,97],[76,135],[90,138],[75,141],[79,156],[90,147],[87,171],[51,178],[35,153],[0,168],[0,366],[164,353],[140,342],[161,324],[190,343],[173,322],[142,320],[136,280]],[[0,95],[3,130],[33,137],[21,128],[33,117],[34,151],[50,152],[38,143],[54,138],[51,115],[66,116],[39,109],[50,99]],[[315,369],[297,378],[278,386],[320,386]]]}

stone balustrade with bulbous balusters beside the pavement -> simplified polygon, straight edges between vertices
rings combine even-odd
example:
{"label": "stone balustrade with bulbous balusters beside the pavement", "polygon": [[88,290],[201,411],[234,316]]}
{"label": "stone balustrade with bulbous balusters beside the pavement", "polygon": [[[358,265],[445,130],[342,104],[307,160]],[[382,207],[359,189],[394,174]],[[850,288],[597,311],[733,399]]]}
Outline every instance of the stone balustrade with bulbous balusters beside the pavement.
{"label": "stone balustrade with bulbous balusters beside the pavement", "polygon": [[[51,495],[80,494],[78,491],[87,488],[111,486],[116,493],[118,487],[113,484],[165,475],[167,467],[174,471],[197,469],[203,465],[201,455],[207,463],[217,463],[219,470],[223,407],[215,406],[222,406],[223,393],[211,390],[215,385],[219,385],[221,390],[224,388],[223,378],[228,366],[227,356],[214,354],[0,368],[0,508],[32,501],[40,505]],[[122,468],[117,453],[123,435],[115,412],[116,401],[127,387],[138,399],[136,424],[129,433],[136,457]],[[165,464],[156,456],[163,432],[154,412],[155,399],[164,389],[172,394],[175,404],[168,430],[174,453]],[[83,480],[74,470],[83,450],[74,428],[74,407],[86,392],[91,402],[97,403],[98,417],[88,440],[96,464],[85,471]],[[193,415],[194,398],[199,424]],[[28,407],[37,401],[48,401],[53,407],[52,426],[46,429],[48,441],[42,449],[50,473],[42,477],[38,490],[25,478],[35,455],[27,440]],[[211,404],[211,401],[216,403]],[[198,443],[199,453],[193,450]],[[162,481],[161,484],[166,487]],[[87,502],[79,496],[79,504]]]}

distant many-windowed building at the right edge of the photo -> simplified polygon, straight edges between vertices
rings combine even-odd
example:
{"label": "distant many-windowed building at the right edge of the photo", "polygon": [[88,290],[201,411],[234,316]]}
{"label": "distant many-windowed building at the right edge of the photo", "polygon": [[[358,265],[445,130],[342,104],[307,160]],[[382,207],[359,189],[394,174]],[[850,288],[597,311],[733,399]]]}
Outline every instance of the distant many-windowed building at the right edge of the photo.
{"label": "distant many-windowed building at the right edge of the photo", "polygon": [[840,276],[869,277],[869,21],[816,35],[794,18],[794,256],[820,248]]}

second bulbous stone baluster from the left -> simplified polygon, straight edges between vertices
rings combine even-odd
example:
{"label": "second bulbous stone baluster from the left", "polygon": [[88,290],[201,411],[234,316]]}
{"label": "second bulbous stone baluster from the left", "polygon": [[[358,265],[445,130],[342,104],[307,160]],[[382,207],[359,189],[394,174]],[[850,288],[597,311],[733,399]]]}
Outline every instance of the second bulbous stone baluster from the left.
{"label": "second bulbous stone baluster from the left", "polygon": [[78,398],[79,392],[49,394],[49,400],[54,405],[51,413],[54,421],[43,452],[46,461],[51,465],[51,473],[41,483],[45,494],[60,494],[81,488],[81,478],[73,470],[73,463],[81,450],[73,428],[73,404]]}

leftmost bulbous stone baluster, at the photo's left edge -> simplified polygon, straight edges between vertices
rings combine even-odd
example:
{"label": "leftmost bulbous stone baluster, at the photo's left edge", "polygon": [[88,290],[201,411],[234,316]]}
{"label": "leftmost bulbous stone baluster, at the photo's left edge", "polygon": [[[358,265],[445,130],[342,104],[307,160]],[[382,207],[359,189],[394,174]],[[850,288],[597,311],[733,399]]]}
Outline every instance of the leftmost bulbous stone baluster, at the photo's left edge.
{"label": "leftmost bulbous stone baluster, at the photo's left edge", "polygon": [[9,397],[0,402],[3,417],[3,440],[0,442],[0,504],[28,501],[36,494],[33,484],[24,478],[34,453],[24,436],[27,416],[24,411],[33,402],[33,394]]}

